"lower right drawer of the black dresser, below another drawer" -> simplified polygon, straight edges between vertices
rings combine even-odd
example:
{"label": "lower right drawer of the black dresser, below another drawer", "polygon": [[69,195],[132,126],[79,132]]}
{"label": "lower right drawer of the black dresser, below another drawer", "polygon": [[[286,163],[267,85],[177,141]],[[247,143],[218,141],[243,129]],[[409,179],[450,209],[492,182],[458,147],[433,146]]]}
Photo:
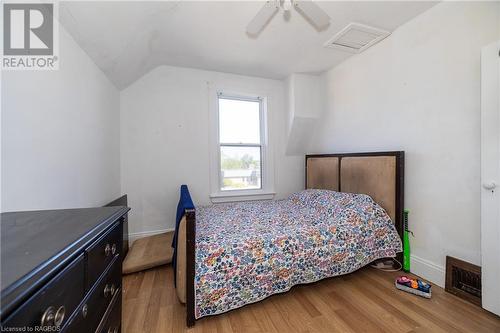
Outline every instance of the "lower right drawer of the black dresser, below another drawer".
{"label": "lower right drawer of the black dresser, below another drawer", "polygon": [[115,257],[109,270],[90,291],[64,332],[95,332],[111,300],[121,290],[121,261]]}

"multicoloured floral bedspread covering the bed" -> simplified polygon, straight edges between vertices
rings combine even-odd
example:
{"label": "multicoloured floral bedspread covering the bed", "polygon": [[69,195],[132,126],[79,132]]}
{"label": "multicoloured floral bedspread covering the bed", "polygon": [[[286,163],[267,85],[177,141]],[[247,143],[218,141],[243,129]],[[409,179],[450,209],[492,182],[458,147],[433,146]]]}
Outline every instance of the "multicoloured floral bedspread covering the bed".
{"label": "multicoloured floral bedspread covering the bed", "polygon": [[196,318],[393,257],[391,219],[363,194],[305,190],[285,200],[196,209]]}

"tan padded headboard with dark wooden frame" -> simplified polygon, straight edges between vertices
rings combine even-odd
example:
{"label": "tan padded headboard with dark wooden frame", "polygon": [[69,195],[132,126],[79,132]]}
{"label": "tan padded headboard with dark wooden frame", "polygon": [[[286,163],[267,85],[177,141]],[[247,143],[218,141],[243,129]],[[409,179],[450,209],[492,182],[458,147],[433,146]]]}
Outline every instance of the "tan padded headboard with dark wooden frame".
{"label": "tan padded headboard with dark wooden frame", "polygon": [[403,238],[404,151],[306,155],[308,188],[368,194]]}

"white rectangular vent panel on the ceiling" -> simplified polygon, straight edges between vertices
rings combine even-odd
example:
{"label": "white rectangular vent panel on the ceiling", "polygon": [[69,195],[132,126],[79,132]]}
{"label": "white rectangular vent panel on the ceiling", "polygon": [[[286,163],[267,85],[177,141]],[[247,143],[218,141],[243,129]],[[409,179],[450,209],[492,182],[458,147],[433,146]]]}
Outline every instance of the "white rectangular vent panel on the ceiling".
{"label": "white rectangular vent panel on the ceiling", "polygon": [[389,31],[364,24],[349,23],[347,27],[328,40],[324,46],[351,53],[360,53],[390,34]]}

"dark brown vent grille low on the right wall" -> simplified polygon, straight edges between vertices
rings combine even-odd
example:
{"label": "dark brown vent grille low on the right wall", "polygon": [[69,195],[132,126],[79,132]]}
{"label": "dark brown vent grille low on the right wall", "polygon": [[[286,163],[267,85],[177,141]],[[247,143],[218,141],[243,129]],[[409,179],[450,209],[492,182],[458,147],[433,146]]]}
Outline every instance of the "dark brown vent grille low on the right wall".
{"label": "dark brown vent grille low on the right wall", "polygon": [[445,290],[481,306],[481,267],[447,256]]}

